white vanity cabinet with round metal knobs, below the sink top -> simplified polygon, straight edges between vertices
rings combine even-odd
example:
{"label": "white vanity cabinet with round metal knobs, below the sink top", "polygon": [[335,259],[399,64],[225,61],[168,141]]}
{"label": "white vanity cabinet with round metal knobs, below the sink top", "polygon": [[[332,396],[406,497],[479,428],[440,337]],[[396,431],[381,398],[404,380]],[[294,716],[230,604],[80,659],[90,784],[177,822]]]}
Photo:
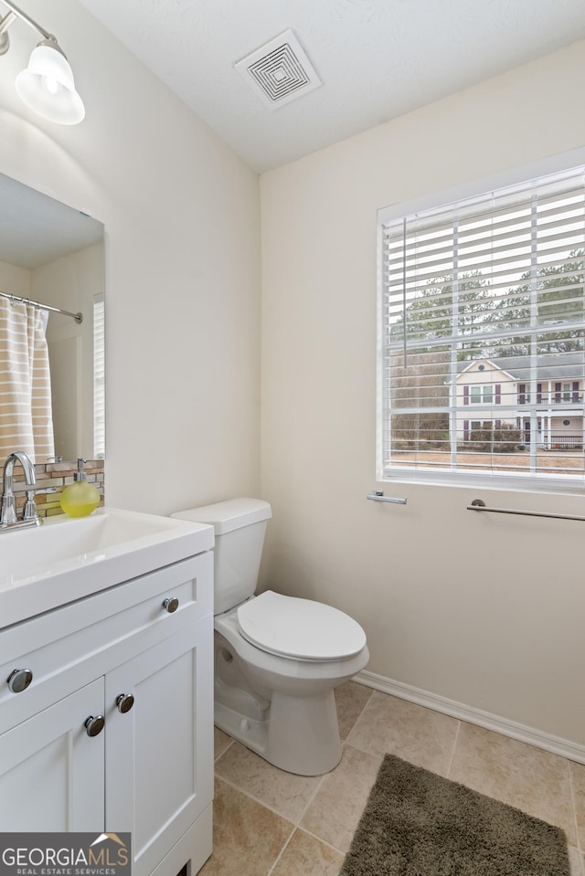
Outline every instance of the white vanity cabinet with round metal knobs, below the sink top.
{"label": "white vanity cabinet with round metal knobs, below the sink top", "polygon": [[[212,576],[207,551],[0,629],[0,830],[129,831],[133,876],[199,870]],[[20,692],[15,670],[32,672]]]}

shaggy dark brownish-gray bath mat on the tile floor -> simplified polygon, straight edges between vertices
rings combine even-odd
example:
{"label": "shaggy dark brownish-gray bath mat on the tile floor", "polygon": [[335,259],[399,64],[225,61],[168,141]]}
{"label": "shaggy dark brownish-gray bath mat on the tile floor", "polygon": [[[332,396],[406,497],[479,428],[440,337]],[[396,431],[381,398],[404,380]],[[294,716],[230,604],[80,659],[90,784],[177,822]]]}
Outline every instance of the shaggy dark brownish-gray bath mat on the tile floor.
{"label": "shaggy dark brownish-gray bath mat on the tile floor", "polygon": [[565,834],[386,755],[340,876],[569,876]]}

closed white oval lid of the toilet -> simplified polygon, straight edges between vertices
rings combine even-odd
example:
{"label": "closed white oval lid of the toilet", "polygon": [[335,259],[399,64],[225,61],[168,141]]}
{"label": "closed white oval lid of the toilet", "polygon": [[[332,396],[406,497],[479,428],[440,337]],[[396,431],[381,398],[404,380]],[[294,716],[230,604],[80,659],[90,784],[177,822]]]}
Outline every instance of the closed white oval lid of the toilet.
{"label": "closed white oval lid of the toilet", "polygon": [[252,645],[297,660],[346,660],[366,645],[364,630],[343,611],[271,590],[238,608],[238,624]]}

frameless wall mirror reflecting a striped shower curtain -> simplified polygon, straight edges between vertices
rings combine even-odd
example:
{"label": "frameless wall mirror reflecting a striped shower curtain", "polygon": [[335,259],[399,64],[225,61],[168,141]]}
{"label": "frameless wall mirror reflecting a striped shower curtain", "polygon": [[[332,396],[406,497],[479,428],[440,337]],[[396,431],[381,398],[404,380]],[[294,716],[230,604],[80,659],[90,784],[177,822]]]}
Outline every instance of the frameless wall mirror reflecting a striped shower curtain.
{"label": "frameless wall mirror reflecting a striped shower curtain", "polygon": [[103,327],[101,222],[0,174],[0,464],[103,459]]}

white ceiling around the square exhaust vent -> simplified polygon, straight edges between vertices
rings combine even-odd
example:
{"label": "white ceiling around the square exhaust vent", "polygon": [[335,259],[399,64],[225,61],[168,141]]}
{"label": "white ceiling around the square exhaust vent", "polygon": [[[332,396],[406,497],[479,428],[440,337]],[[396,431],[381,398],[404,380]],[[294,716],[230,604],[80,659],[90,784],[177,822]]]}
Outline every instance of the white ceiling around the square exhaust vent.
{"label": "white ceiling around the square exhaust vent", "polygon": [[[262,173],[585,37],[584,0],[79,0]],[[291,28],[323,84],[234,65]]]}

